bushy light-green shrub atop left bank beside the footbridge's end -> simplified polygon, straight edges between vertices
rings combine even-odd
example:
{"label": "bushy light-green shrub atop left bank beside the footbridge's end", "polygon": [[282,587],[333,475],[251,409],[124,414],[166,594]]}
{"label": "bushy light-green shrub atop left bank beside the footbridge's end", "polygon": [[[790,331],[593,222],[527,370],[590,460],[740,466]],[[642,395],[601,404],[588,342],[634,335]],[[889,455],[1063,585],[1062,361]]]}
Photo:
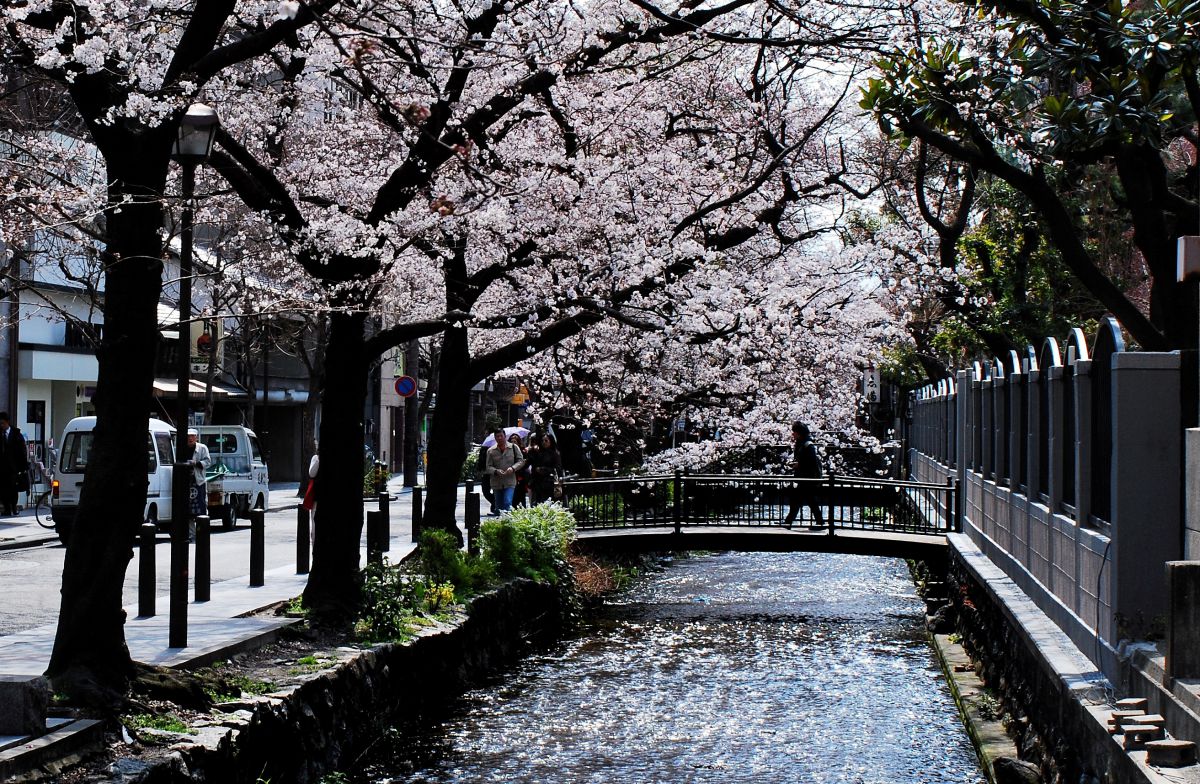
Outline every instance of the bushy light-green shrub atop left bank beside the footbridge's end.
{"label": "bushy light-green shrub atop left bank beside the footbridge's end", "polygon": [[566,552],[575,517],[557,503],[522,507],[484,523],[480,543],[500,576],[558,582],[568,574]]}

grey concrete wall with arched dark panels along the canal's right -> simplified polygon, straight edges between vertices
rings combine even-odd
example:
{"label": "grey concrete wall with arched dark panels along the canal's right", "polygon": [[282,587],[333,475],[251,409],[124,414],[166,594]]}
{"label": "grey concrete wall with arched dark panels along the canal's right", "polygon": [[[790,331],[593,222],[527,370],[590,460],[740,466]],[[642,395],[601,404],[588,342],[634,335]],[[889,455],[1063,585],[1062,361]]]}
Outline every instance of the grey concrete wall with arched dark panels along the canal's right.
{"label": "grey concrete wall with arched dark panels along the canal's right", "polygon": [[[958,478],[967,535],[1115,678],[1122,640],[1165,630],[1164,564],[1200,553],[1200,523],[1183,523],[1180,354],[1123,352],[1116,330],[1097,351],[1073,337],[1063,361],[1048,341],[922,390],[911,469]],[[1200,486],[1190,503],[1200,520]]]}

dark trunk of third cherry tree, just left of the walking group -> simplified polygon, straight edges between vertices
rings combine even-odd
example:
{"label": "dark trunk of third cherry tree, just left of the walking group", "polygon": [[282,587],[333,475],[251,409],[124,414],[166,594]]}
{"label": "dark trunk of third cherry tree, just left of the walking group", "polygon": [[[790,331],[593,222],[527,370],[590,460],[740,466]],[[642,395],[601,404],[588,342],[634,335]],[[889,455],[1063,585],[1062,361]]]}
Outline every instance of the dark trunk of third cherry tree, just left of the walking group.
{"label": "dark trunk of third cherry tree, just left of the walking group", "polygon": [[458,475],[467,459],[467,412],[470,408],[470,388],[467,377],[470,349],[467,330],[448,329],[438,363],[438,405],[430,423],[428,465],[425,467],[424,523],[438,527],[462,539],[456,523]]}

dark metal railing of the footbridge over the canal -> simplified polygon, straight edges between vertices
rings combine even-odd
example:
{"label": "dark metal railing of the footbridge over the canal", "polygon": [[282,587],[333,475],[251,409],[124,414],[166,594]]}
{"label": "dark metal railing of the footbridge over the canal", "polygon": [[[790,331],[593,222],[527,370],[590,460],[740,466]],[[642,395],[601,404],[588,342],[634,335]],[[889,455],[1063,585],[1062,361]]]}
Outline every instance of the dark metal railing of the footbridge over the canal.
{"label": "dark metal railing of the footbridge over the canal", "polygon": [[958,529],[953,484],[830,475],[653,474],[564,483],[564,503],[581,529],[674,526],[769,527],[810,504],[833,529],[947,533]]}

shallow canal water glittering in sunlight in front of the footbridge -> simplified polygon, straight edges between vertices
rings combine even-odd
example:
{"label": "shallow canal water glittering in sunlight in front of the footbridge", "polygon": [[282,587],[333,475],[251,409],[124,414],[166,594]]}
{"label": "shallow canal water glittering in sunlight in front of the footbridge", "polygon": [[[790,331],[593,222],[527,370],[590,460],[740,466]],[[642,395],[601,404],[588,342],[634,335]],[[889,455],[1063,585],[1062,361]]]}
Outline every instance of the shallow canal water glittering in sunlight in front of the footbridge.
{"label": "shallow canal water glittering in sunlight in front of the footbridge", "polygon": [[676,559],[354,782],[984,782],[904,562]]}

